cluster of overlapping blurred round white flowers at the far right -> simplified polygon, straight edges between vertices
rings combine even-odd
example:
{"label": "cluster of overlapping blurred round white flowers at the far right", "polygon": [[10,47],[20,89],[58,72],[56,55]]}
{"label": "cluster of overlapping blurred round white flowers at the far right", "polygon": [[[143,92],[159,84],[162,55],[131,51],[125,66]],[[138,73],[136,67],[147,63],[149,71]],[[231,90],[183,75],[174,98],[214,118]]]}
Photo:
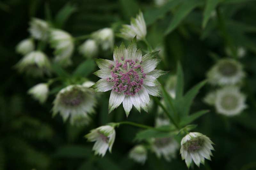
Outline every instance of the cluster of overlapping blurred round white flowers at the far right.
{"label": "cluster of overlapping blurred round white flowers at the far right", "polygon": [[204,102],[215,106],[218,113],[226,116],[240,114],[245,108],[245,95],[240,92],[245,73],[241,63],[234,59],[221,59],[207,73],[210,84],[217,89],[209,92]]}

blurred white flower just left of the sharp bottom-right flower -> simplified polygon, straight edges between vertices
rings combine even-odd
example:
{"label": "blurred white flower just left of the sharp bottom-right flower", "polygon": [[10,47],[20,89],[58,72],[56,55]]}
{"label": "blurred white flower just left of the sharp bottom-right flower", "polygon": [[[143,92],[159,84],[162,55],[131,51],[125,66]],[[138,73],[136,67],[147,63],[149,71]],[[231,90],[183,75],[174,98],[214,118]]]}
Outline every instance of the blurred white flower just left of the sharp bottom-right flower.
{"label": "blurred white flower just left of the sharp bottom-right flower", "polygon": [[176,157],[178,147],[179,144],[172,137],[152,139],[152,150],[156,153],[156,156],[161,158],[163,155],[167,161],[171,161],[172,158]]}

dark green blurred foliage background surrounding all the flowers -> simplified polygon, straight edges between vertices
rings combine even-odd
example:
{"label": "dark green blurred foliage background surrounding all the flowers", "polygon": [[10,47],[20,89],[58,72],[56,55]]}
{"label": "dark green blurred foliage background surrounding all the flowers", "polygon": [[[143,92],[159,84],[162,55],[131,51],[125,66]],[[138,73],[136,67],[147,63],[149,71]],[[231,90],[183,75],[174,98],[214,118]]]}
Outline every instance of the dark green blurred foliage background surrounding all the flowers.
{"label": "dark green blurred foliage background surrounding all the flowers", "polygon": [[[58,13],[67,3],[68,9]],[[139,114],[133,108],[126,119],[122,106],[108,114],[110,93],[106,92],[99,99],[93,123],[73,127],[63,123],[60,116],[52,119],[51,101],[55,95],[51,95],[44,105],[28,96],[27,90],[42,80],[18,74],[13,69],[21,58],[15,53],[15,46],[28,37],[28,22],[32,17],[48,21],[56,19],[59,21],[56,27],[76,37],[104,27],[112,27],[118,33],[121,24],[128,24],[139,10],[144,13],[150,44],[154,48],[164,46],[159,69],[175,74],[176,63],[180,61],[185,75],[185,91],[205,79],[205,73],[216,60],[227,55],[226,48],[230,48],[234,56],[240,46],[247,50],[244,58],[239,60],[247,73],[243,92],[247,95],[248,109],[232,118],[216,114],[212,109],[196,121],[195,131],[211,137],[215,143],[212,161],[206,161],[200,169],[256,169],[255,1],[170,0],[164,6],[156,7],[149,0],[1,0],[0,170],[187,169],[178,153],[177,159],[166,162],[151,152],[144,166],[130,160],[128,151],[137,143],[134,137],[140,130],[135,127],[118,128],[113,152],[104,158],[93,156],[93,144],[84,139],[90,129],[108,122],[128,120],[153,126],[156,104],[148,114],[144,111]],[[63,20],[63,15],[69,16]],[[116,38],[115,41],[119,45],[123,40]],[[140,47],[143,45],[139,43]],[[101,53],[100,57],[110,59],[111,55],[110,52]],[[83,60],[76,52],[74,64],[67,71],[71,73]],[[91,72],[96,69],[92,64]],[[88,75],[91,80],[98,80],[96,76]],[[161,81],[166,78],[164,76]],[[209,90],[210,86],[203,87],[191,112],[209,109],[202,102]]]}

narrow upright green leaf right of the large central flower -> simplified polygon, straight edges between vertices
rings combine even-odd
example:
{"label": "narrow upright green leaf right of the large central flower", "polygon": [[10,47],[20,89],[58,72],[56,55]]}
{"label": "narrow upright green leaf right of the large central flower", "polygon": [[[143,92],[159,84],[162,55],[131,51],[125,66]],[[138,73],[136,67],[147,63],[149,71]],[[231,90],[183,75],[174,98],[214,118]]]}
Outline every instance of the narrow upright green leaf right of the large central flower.
{"label": "narrow upright green leaf right of the large central flower", "polygon": [[183,96],[184,91],[184,74],[180,62],[177,66],[177,85],[176,85],[176,99],[179,100]]}

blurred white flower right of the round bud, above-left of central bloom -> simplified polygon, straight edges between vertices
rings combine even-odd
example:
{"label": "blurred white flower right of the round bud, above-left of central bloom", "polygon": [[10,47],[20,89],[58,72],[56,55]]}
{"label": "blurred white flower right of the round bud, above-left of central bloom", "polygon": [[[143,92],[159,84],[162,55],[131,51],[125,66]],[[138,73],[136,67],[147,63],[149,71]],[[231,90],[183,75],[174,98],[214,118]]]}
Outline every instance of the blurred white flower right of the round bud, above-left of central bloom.
{"label": "blurred white flower right of the round bud, above-left of central bloom", "polygon": [[103,50],[113,50],[114,47],[114,32],[111,28],[103,28],[92,33],[92,38],[100,44]]}

